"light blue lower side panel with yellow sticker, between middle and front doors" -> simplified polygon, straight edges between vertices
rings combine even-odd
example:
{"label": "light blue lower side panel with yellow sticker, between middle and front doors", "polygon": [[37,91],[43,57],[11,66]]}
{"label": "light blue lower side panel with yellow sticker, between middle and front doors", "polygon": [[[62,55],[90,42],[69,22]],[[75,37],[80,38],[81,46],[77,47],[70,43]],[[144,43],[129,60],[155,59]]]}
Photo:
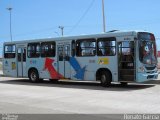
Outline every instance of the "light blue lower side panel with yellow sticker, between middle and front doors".
{"label": "light blue lower side panel with yellow sticker, between middle and front doors", "polygon": [[116,56],[76,57],[75,64],[77,65],[71,65],[71,78],[74,80],[96,81],[96,72],[101,68],[106,68],[112,73],[112,81],[118,81],[118,71],[115,67],[117,66]]}

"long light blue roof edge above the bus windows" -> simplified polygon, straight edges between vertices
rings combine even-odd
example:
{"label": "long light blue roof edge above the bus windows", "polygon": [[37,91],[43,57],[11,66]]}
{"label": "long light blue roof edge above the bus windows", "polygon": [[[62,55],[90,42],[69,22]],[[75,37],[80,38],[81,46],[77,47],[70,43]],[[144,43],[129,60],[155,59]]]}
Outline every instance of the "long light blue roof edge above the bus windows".
{"label": "long light blue roof edge above the bus windows", "polygon": [[120,37],[120,36],[132,36],[136,35],[137,32],[147,32],[147,31],[118,31],[113,30],[105,33],[99,34],[89,34],[89,35],[79,35],[79,36],[63,36],[63,37],[55,37],[55,38],[41,38],[41,39],[30,39],[30,40],[19,40],[12,42],[4,42],[4,44],[18,44],[18,43],[29,43],[29,42],[44,42],[44,41],[63,41],[63,40],[77,40],[77,39],[87,39],[87,38],[96,38],[96,37]]}

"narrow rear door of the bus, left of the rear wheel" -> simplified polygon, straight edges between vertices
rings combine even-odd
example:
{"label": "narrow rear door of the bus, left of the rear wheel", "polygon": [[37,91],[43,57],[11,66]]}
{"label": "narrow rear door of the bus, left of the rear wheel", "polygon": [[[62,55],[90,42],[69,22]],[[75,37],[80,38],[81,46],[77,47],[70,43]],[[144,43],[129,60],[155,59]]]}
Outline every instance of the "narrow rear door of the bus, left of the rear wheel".
{"label": "narrow rear door of the bus, left of the rear wheel", "polygon": [[17,76],[26,76],[26,48],[17,48]]}

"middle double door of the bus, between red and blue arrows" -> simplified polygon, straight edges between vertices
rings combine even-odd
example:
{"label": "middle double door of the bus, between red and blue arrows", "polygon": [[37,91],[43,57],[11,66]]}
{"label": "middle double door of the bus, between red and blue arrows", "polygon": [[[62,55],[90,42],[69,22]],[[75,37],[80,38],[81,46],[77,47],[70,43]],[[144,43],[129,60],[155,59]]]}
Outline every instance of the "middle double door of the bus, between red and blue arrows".
{"label": "middle double door of the bus, between red and blue arrows", "polygon": [[71,78],[70,44],[58,45],[58,72],[66,79]]}

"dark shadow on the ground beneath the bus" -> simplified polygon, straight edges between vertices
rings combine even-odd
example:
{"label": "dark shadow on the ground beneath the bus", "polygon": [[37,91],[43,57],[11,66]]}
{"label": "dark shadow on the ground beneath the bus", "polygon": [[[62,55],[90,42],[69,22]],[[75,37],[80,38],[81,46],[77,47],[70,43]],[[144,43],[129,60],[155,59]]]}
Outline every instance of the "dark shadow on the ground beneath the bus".
{"label": "dark shadow on the ground beneath the bus", "polygon": [[53,83],[50,81],[43,81],[42,83],[31,83],[28,79],[5,80],[5,81],[0,81],[0,84],[104,90],[104,91],[131,91],[131,90],[151,88],[155,86],[154,84],[129,84],[127,86],[122,86],[121,84],[112,84],[110,87],[102,87],[100,83],[97,82],[59,81],[57,83]]}

